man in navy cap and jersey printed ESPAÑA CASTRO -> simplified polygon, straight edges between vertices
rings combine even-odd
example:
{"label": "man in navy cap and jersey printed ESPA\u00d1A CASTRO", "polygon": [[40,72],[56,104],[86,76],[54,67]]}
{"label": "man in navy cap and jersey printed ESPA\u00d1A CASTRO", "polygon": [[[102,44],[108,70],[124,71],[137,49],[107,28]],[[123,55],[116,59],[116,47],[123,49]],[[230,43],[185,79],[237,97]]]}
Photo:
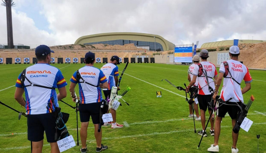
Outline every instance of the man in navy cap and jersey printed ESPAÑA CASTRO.
{"label": "man in navy cap and jersey printed ESPA\u00d1A CASTRO", "polygon": [[[56,121],[51,110],[59,107],[58,100],[67,97],[65,87],[67,82],[59,69],[49,65],[51,52],[54,53],[46,45],[36,47],[35,55],[38,63],[23,71],[24,81],[21,80],[21,73],[16,82],[14,98],[26,109],[27,133],[28,140],[32,141],[32,152],[42,152],[45,131],[51,152],[59,153],[55,140]],[[56,94],[55,88],[58,88],[59,94]],[[22,97],[24,92],[25,99]]]}

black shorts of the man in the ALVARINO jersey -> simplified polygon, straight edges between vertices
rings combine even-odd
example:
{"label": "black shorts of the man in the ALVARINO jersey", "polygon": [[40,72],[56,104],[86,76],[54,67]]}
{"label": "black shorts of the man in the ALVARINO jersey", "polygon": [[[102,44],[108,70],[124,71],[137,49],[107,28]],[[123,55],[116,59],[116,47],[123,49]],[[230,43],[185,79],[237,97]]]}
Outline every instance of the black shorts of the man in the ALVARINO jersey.
{"label": "black shorts of the man in the ALVARINO jersey", "polygon": [[100,124],[100,102],[80,104],[80,122],[89,122],[90,116],[93,124]]}

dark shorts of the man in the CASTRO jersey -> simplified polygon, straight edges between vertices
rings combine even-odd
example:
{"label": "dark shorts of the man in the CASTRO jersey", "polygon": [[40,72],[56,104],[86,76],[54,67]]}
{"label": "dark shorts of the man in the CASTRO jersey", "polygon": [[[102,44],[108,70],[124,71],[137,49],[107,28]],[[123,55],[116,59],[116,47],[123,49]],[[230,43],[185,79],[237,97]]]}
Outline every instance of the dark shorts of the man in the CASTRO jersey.
{"label": "dark shorts of the man in the CASTRO jersey", "polygon": [[43,140],[45,131],[47,142],[56,142],[54,135],[56,133],[56,123],[52,113],[30,114],[27,117],[28,140],[38,142]]}

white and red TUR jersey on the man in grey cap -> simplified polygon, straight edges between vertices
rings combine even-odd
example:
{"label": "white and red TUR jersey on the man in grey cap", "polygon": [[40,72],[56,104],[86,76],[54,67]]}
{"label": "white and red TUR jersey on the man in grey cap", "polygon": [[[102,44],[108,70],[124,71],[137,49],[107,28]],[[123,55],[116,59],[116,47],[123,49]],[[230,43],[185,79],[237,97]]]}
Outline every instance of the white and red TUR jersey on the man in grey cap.
{"label": "white and red TUR jersey on the man in grey cap", "polygon": [[[202,65],[202,70],[200,69],[199,65]],[[206,71],[205,71],[206,70]],[[208,62],[208,61],[202,61],[199,64],[197,64],[194,67],[194,71],[193,71],[193,75],[198,76],[198,74],[200,73],[200,71],[203,71],[202,75],[198,77],[198,81],[199,81],[199,90],[198,90],[198,94],[200,95],[209,95],[211,94],[209,92],[209,87],[207,85],[207,79],[209,82],[210,87],[213,88],[213,90],[215,89],[214,87],[214,81],[213,81],[213,77],[217,76],[217,70],[214,64]],[[206,74],[205,72],[207,72],[207,79],[206,79]],[[209,78],[211,77],[211,78]]]}

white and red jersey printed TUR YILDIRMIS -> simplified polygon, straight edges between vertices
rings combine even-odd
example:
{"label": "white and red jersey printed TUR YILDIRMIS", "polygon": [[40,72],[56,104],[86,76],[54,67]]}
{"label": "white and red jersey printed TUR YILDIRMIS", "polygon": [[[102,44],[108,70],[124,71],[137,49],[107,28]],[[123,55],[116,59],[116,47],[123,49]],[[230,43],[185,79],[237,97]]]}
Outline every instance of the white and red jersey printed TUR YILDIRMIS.
{"label": "white and red jersey printed TUR YILDIRMIS", "polygon": [[[227,77],[233,77],[239,83],[241,83],[243,79],[245,83],[250,83],[252,82],[252,78],[249,74],[249,69],[244,64],[233,59],[230,59],[226,62],[228,63],[229,72],[232,76],[230,75],[230,73],[228,73],[226,78],[223,79],[223,88],[221,90],[220,97],[221,99],[223,99],[223,101],[227,101],[228,99],[233,97],[230,102],[244,102],[240,85],[236,83],[232,78]],[[226,72],[223,63],[220,65],[219,72]]]}

